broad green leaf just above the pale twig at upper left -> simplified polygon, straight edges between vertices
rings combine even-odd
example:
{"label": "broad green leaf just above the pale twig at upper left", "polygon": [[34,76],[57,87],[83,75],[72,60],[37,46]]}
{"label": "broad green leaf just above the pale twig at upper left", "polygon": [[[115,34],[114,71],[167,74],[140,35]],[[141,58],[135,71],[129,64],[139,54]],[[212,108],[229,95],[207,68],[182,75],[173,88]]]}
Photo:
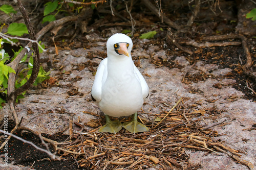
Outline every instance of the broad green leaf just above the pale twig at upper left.
{"label": "broad green leaf just above the pale twig at upper left", "polygon": [[28,34],[29,32],[24,23],[13,22],[9,25],[7,33],[11,35],[22,36],[23,34]]}

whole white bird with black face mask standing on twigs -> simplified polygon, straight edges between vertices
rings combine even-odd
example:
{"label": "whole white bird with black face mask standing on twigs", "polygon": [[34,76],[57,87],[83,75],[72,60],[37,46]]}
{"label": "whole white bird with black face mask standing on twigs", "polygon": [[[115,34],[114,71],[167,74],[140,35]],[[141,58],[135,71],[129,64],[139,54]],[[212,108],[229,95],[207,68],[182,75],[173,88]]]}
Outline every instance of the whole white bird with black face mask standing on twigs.
{"label": "whole white bird with black face mask standing on twigs", "polygon": [[[132,39],[124,34],[114,34],[106,42],[108,57],[100,62],[91,91],[92,99],[106,117],[106,124],[99,132],[117,133],[122,127],[132,133],[148,131],[137,121],[137,111],[148,96],[148,86],[133,63],[132,47]],[[132,121],[123,125],[109,117],[132,114]]]}

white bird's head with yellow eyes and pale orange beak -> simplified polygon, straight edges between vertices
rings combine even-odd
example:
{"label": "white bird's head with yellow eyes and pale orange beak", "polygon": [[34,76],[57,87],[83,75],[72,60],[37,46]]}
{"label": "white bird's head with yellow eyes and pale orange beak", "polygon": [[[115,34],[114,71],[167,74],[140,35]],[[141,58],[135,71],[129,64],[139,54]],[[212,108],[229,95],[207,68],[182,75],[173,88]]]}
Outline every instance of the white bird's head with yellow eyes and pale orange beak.
{"label": "white bird's head with yellow eyes and pale orange beak", "polygon": [[114,34],[106,42],[108,57],[131,57],[132,39],[125,34]]}

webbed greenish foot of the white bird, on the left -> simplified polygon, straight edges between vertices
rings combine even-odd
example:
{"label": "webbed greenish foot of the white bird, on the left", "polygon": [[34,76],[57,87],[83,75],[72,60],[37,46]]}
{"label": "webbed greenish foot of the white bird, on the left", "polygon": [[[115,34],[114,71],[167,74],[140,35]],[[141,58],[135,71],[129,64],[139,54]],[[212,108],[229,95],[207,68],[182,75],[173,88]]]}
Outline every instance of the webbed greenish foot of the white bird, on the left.
{"label": "webbed greenish foot of the white bird, on the left", "polygon": [[99,129],[99,132],[109,132],[116,134],[122,129],[122,124],[119,120],[110,120],[110,116],[105,114],[106,124]]}

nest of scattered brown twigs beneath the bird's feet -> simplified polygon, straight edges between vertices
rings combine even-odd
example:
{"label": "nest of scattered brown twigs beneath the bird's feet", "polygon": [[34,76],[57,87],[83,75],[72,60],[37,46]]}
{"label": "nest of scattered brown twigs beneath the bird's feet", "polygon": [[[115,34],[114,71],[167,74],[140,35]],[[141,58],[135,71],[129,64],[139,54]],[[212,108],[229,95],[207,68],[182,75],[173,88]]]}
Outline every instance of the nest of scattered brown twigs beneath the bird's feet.
{"label": "nest of scattered brown twigs beneath the bird's feet", "polygon": [[[191,109],[182,105],[177,105],[176,111],[172,110],[148,115],[151,120],[140,114],[139,119],[150,128],[150,132],[133,134],[122,129],[117,134],[110,134],[99,133],[98,128],[74,132],[69,140],[63,142],[62,148],[69,152],[61,157],[72,157],[79,167],[86,169],[173,169],[173,166],[197,169],[200,165],[188,163],[184,148],[189,148],[215,154],[222,152],[248,167],[252,166],[240,158],[239,151],[216,142],[217,131],[198,124],[204,110],[188,112]],[[98,120],[91,122],[95,124]]]}

